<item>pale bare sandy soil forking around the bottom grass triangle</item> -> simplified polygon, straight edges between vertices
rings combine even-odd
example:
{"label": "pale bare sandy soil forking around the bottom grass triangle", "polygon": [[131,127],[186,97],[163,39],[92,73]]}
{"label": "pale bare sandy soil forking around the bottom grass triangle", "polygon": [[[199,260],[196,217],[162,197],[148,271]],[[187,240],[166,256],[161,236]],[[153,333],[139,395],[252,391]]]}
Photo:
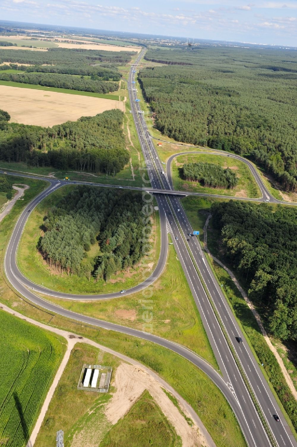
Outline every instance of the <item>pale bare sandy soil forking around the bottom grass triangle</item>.
{"label": "pale bare sandy soil forking around the bottom grass triangle", "polygon": [[[198,432],[198,427],[195,424],[192,427],[188,425],[176,406],[163,392],[157,380],[142,368],[121,363],[117,367],[113,385],[117,390],[105,409],[105,415],[112,424],[116,424],[121,417],[124,417],[142,392],[147,389],[175,427],[176,433],[180,435],[183,447],[197,447],[201,444],[208,446],[204,436]],[[180,407],[189,416],[181,404]]]}

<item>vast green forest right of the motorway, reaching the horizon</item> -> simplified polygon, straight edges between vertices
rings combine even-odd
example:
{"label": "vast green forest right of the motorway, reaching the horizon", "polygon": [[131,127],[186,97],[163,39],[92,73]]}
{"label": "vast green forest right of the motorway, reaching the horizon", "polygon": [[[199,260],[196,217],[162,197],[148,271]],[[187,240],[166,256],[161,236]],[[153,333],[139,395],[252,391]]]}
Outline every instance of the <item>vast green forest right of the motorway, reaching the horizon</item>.
{"label": "vast green forest right of the motorway, reaching the horizon", "polygon": [[[159,131],[250,156],[285,189],[297,191],[296,56],[277,49],[199,47],[149,49],[145,58],[167,64],[138,76]],[[170,61],[191,65],[168,66]]]}

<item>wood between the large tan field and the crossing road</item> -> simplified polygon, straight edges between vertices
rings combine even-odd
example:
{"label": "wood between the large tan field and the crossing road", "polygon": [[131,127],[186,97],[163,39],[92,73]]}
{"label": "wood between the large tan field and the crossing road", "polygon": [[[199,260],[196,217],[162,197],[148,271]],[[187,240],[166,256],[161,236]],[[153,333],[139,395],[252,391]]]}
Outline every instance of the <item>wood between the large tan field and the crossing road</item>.
{"label": "wood between the large tan field and the crossing road", "polygon": [[0,160],[107,175],[115,175],[129,161],[121,110],[48,128],[10,123],[9,118],[0,110]]}

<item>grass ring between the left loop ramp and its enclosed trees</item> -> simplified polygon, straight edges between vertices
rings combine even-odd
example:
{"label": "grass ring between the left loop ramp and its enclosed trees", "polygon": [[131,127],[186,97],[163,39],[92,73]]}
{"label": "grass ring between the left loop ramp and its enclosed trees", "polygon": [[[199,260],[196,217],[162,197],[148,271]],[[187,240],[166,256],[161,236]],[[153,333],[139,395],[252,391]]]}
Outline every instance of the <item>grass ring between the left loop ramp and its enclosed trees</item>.
{"label": "grass ring between the left loop ramp and its enclosed trees", "polygon": [[[43,199],[30,214],[17,251],[17,262],[21,272],[36,284],[43,284],[44,287],[48,287],[51,290],[70,294],[99,294],[120,291],[123,288],[128,289],[133,287],[148,278],[158,262],[160,252],[160,224],[159,212],[157,211],[154,211],[152,214],[153,232],[151,234],[151,239],[154,246],[152,251],[153,259],[148,262],[146,261],[146,256],[144,256],[138,265],[131,268],[128,272],[123,271],[117,275],[112,275],[107,283],[103,281],[96,282],[92,277],[89,281],[86,276],[78,276],[76,274],[68,276],[66,272],[61,274],[60,271],[55,271],[46,264],[37,250],[38,240],[43,234],[43,218],[50,208],[56,206],[61,198],[69,191],[73,190],[73,188],[77,188],[77,186],[67,185],[55,190],[52,194]],[[121,194],[121,191],[119,190],[117,194]],[[139,195],[141,193],[135,192],[132,194]],[[95,244],[91,246],[91,249],[85,253],[86,257],[82,262],[88,263],[88,261],[90,261],[93,263],[94,257],[101,253],[98,242],[96,241]],[[145,266],[143,266],[143,264],[145,264]]]}

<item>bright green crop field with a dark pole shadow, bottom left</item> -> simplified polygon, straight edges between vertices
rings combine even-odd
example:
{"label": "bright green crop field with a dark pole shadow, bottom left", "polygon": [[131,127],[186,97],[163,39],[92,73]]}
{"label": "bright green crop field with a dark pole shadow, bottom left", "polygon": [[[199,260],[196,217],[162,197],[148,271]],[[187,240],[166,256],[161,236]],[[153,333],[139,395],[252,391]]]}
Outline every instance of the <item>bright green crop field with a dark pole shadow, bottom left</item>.
{"label": "bright green crop field with a dark pole shadow, bottom left", "polygon": [[3,311],[0,325],[0,444],[21,447],[29,439],[66,344],[62,337]]}

